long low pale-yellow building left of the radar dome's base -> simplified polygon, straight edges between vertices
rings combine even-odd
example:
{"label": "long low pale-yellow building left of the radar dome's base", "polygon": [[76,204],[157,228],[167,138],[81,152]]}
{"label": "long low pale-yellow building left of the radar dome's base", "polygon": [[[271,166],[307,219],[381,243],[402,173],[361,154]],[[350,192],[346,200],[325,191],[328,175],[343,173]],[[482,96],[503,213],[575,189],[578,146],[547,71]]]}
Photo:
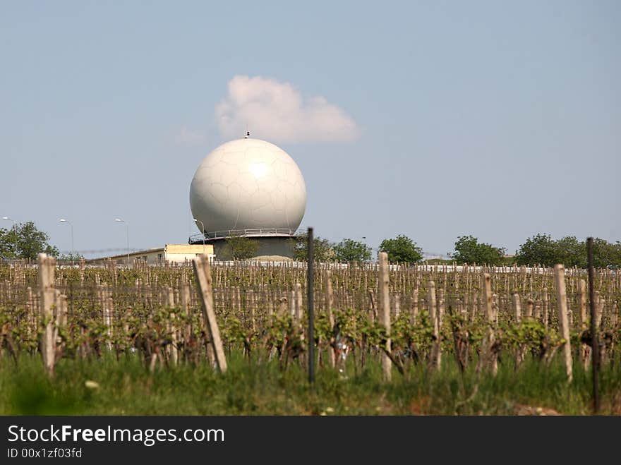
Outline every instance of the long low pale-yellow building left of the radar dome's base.
{"label": "long low pale-yellow building left of the radar dome's base", "polygon": [[107,260],[114,260],[118,265],[127,265],[128,262],[131,264],[134,260],[142,260],[147,265],[160,265],[165,262],[184,263],[203,253],[207,254],[208,258],[214,258],[212,244],[166,244],[164,247],[130,252],[129,255],[123,253],[112,257],[93,258],[86,262],[89,265],[102,265]]}

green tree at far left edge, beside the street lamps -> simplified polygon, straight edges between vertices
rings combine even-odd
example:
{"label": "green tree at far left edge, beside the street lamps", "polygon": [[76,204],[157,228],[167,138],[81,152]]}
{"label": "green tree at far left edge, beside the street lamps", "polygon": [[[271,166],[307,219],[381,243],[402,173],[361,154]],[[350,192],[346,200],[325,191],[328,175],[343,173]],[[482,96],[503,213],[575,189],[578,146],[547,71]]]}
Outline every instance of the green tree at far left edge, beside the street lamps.
{"label": "green tree at far left edge, beside the street lamps", "polygon": [[36,260],[39,253],[57,257],[59,250],[49,244],[49,236],[37,229],[35,223],[18,223],[11,229],[0,229],[0,258]]}

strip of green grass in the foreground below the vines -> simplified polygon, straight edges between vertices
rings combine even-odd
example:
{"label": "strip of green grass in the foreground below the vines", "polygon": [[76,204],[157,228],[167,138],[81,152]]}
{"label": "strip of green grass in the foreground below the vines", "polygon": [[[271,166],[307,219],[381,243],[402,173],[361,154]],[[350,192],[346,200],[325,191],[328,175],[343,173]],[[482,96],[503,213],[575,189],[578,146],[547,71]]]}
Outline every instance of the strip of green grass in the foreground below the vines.
{"label": "strip of green grass in the foreground below the vines", "polygon": [[[474,368],[474,366],[472,367]],[[576,364],[567,385],[564,367],[527,360],[514,371],[502,364],[498,375],[464,378],[450,358],[442,370],[414,366],[406,376],[393,372],[382,382],[380,364],[347,377],[319,368],[315,387],[299,366],[283,371],[277,363],[229,356],[229,370],[181,364],[149,373],[135,356],[107,356],[94,361],[63,359],[54,380],[39,357],[22,356],[18,364],[0,359],[0,413],[4,415],[512,415],[519,404],[560,413],[591,413],[591,375]],[[99,387],[88,387],[94,381]],[[90,384],[90,383],[89,383]],[[475,387],[478,389],[473,394]],[[621,414],[619,364],[601,376],[602,413]]]}

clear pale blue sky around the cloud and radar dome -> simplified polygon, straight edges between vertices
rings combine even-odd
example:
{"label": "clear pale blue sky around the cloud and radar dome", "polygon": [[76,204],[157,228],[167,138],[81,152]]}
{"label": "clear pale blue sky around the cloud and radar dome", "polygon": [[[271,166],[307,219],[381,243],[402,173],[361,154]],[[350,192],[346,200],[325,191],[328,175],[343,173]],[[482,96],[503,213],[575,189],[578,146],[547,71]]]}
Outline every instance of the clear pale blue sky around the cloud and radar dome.
{"label": "clear pale blue sky around the cloud and radar dome", "polygon": [[194,171],[234,131],[217,106],[248,76],[355,126],[253,133],[299,164],[319,236],[618,241],[619,24],[617,1],[3,2],[0,217],[61,250],[61,217],[76,250],[124,248],[115,217],[131,248],[185,243]]}

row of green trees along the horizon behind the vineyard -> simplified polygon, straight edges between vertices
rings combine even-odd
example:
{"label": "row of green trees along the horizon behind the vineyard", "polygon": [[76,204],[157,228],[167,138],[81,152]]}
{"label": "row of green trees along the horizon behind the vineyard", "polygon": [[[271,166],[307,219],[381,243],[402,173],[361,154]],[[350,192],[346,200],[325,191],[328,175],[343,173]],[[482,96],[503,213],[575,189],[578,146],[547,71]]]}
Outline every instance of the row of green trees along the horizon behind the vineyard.
{"label": "row of green trees along the horizon behind the vineyard", "polygon": [[[319,261],[370,262],[373,249],[362,241],[345,238],[332,243],[325,238],[315,237],[315,259]],[[258,243],[244,236],[231,236],[223,250],[227,258],[244,260],[255,256]],[[308,241],[301,234],[292,239],[294,260],[306,260]],[[40,231],[34,222],[15,224],[12,228],[0,228],[0,259],[27,258],[35,260],[39,253],[59,257],[59,250],[49,243],[49,236]],[[384,239],[378,252],[386,252],[390,262],[416,263],[423,260],[423,249],[411,238],[399,234]],[[474,236],[459,236],[450,253],[452,262],[459,264],[478,263],[486,265],[543,265],[551,267],[562,263],[566,267],[586,267],[586,241],[575,236],[553,239],[549,234],[536,234],[519,246],[514,256],[507,256],[506,249],[490,243],[479,242]],[[81,258],[80,255],[66,255],[61,259]],[[621,267],[621,242],[609,243],[601,238],[593,239],[593,264],[598,268]]]}

